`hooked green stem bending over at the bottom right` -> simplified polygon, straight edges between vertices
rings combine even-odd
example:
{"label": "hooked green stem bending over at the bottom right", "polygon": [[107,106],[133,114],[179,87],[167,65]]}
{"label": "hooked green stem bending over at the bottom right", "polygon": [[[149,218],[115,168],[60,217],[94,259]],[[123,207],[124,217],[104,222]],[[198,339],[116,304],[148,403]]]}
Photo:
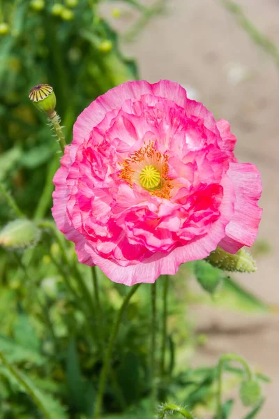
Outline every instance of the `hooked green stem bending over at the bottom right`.
{"label": "hooked green stem bending over at the bottom right", "polygon": [[218,388],[216,393],[216,419],[222,419],[222,373],[223,373],[223,367],[225,365],[225,362],[227,361],[236,361],[239,362],[241,365],[243,365],[243,368],[246,371],[248,380],[252,380],[253,372],[250,369],[248,363],[246,360],[243,360],[241,356],[236,355],[236,353],[227,353],[225,355],[222,355],[219,359],[218,366],[217,366],[217,381],[218,381]]}

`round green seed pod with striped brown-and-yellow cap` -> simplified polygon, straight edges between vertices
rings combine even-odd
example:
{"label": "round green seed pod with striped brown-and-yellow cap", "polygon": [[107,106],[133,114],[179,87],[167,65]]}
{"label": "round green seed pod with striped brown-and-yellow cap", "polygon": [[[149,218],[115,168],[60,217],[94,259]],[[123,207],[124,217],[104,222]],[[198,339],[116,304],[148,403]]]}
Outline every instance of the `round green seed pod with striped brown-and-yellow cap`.
{"label": "round green seed pod with striped brown-and-yellow cap", "polygon": [[53,88],[49,84],[38,84],[29,92],[29,99],[42,112],[51,116],[56,106],[56,97]]}

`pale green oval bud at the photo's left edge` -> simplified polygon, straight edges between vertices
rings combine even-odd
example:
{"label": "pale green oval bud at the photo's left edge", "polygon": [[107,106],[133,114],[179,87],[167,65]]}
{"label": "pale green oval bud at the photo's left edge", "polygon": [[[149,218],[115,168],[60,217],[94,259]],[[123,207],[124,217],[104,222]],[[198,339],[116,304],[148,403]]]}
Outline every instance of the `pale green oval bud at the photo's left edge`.
{"label": "pale green oval bud at the photo's left edge", "polygon": [[40,239],[40,230],[33,221],[17,219],[10,221],[0,231],[0,245],[6,249],[25,249]]}

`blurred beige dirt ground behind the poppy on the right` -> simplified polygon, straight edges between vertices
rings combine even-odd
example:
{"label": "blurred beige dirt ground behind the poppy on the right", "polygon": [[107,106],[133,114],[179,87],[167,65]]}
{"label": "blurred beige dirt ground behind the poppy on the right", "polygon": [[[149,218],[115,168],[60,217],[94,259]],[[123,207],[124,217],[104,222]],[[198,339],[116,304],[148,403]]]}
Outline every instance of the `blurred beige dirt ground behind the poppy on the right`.
{"label": "blurred beige dirt ground behind the poppy on the right", "polygon": [[[151,3],[151,0],[146,0]],[[279,48],[279,0],[239,0],[246,15]],[[133,19],[123,10],[112,19],[120,31]],[[112,6],[105,6],[108,15]],[[271,245],[258,259],[258,270],[241,275],[239,281],[274,307],[279,306],[279,65],[250,40],[234,17],[218,0],[169,0],[167,14],[151,20],[133,43],[123,49],[135,57],[140,75],[150,82],[167,78],[190,88],[216,118],[225,118],[238,137],[236,155],[255,163],[262,173],[263,219],[259,240]],[[268,374],[272,383],[259,419],[279,418],[279,317],[220,313],[209,309],[193,311],[199,328],[211,330],[209,344],[193,363],[216,363],[223,352],[236,352]],[[213,330],[213,332],[212,332]],[[215,330],[215,332],[214,332]],[[216,331],[217,330],[217,331]],[[232,419],[243,417],[238,406]]]}

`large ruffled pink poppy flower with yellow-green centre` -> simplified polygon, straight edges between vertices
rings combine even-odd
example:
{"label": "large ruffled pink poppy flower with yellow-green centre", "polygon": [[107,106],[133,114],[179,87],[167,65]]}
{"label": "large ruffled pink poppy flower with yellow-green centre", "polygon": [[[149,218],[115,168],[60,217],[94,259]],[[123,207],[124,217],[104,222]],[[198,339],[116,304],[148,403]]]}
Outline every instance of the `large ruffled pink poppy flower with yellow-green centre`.
{"label": "large ruffled pink poppy flower with yellow-green centre", "polygon": [[251,246],[259,172],[235,136],[179,84],[127,82],[77,118],[54,176],[52,214],[78,259],[126,285]]}

